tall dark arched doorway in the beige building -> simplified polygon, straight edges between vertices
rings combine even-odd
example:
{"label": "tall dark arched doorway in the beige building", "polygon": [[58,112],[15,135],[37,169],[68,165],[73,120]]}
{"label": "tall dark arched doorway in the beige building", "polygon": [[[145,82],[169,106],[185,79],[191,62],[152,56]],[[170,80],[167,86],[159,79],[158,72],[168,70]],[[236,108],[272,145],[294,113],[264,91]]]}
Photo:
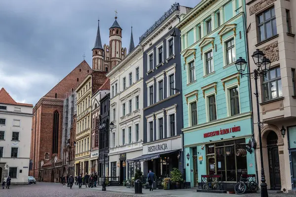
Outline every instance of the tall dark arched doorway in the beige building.
{"label": "tall dark arched doorway in the beige building", "polygon": [[267,152],[268,152],[268,166],[269,179],[271,190],[281,190],[281,171],[278,148],[278,136],[274,131],[270,131],[266,137]]}

